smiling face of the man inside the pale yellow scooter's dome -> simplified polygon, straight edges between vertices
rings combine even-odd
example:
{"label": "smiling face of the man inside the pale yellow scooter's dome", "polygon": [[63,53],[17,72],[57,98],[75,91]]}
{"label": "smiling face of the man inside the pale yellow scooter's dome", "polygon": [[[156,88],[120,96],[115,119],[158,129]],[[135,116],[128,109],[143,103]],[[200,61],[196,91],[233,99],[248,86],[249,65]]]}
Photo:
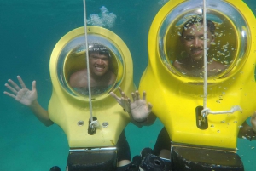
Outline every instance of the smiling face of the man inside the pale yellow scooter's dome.
{"label": "smiling face of the man inside the pale yellow scooter's dome", "polygon": [[92,52],[89,56],[90,72],[96,76],[103,76],[109,69],[109,59],[105,54]]}

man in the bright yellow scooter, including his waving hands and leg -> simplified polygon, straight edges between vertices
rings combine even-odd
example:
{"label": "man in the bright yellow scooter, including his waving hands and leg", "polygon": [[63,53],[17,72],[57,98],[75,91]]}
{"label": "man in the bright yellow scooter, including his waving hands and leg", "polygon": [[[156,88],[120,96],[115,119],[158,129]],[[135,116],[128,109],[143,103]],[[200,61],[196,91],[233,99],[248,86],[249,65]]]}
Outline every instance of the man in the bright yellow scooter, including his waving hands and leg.
{"label": "man in the bright yellow scooter, including his waving hands and leg", "polygon": [[[211,43],[214,41],[214,30],[215,26],[211,20],[207,20],[207,48],[211,47]],[[184,25],[182,37],[180,41],[188,54],[185,58],[181,60],[175,60],[173,66],[181,72],[185,72],[189,76],[198,77],[201,76],[203,71],[203,20],[200,16],[191,17]],[[207,59],[207,73],[208,76],[214,76],[226,69],[221,63],[217,61]],[[154,123],[156,116],[152,113],[153,105],[146,101],[146,92],[143,92],[143,98],[136,91],[132,93],[131,101],[125,93],[119,88],[121,96],[117,96],[113,92],[110,94],[115,100],[121,105],[125,111],[127,111],[131,117],[131,123],[137,125],[141,128],[143,126],[148,126]],[[256,139],[256,111],[252,115],[250,120],[251,125],[247,122],[242,124],[240,132],[238,134],[239,138],[246,137],[249,140]],[[170,158],[170,148],[171,139],[166,130],[162,128],[160,134],[157,137],[156,143],[154,145],[153,154],[159,157]]]}

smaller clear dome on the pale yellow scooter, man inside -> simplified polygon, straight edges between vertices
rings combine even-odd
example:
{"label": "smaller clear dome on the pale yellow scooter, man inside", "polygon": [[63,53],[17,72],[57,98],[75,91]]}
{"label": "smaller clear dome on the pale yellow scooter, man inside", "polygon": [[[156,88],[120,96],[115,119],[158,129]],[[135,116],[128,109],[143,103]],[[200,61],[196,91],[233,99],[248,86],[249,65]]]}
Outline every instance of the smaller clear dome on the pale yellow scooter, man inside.
{"label": "smaller clear dome on the pale yellow scooter, man inside", "polygon": [[[118,48],[105,37],[89,34],[87,39],[90,76],[95,76],[90,78],[91,95],[108,94],[121,82],[124,71],[123,57]],[[57,61],[57,75],[61,86],[69,94],[89,95],[86,61],[84,35],[73,38],[61,50]]]}

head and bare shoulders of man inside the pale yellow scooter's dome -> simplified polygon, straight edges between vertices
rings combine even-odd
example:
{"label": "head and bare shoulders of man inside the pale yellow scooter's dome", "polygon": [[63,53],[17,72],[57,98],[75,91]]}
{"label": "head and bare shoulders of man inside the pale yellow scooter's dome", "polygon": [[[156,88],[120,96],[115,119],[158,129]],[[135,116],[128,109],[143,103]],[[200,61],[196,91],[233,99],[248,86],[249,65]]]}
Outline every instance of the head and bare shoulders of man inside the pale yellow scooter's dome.
{"label": "head and bare shoulders of man inside the pale yellow scooter's dome", "polygon": [[[116,80],[116,75],[110,70],[111,54],[108,48],[99,43],[89,43],[88,54],[91,94],[102,94]],[[69,83],[77,92],[88,95],[87,68],[74,72]]]}

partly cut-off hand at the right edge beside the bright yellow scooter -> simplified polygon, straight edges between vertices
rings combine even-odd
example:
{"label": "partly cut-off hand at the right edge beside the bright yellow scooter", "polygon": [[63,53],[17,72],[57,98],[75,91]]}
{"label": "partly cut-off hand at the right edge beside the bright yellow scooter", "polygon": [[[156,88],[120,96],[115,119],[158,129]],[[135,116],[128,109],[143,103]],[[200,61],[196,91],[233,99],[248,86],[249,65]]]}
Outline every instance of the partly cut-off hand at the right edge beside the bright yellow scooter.
{"label": "partly cut-off hand at the right edge beside the bright yellow scooter", "polygon": [[251,117],[251,124],[252,126],[248,125],[246,121],[242,123],[242,126],[238,134],[239,138],[256,140],[256,111],[253,113]]}

